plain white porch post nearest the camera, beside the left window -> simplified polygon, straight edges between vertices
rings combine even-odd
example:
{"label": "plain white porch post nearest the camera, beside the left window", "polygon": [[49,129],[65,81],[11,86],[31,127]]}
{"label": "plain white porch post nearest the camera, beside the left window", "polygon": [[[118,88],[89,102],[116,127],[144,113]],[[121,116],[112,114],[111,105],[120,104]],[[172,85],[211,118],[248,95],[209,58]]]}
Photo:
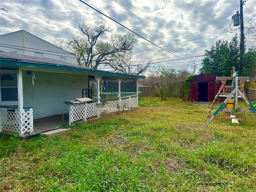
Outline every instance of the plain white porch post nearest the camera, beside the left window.
{"label": "plain white porch post nearest the camera, beside the left window", "polygon": [[22,113],[24,112],[23,109],[23,86],[22,86],[22,70],[18,69],[18,114],[20,119],[20,125],[19,125],[19,135],[22,135]]}

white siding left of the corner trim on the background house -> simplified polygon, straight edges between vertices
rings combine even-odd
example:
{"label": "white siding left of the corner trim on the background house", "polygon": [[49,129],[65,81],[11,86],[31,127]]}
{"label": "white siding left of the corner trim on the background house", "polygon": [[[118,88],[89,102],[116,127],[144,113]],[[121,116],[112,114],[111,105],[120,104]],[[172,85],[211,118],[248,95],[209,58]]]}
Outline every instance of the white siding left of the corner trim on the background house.
{"label": "white siding left of the corner trim on the background house", "polygon": [[[24,54],[22,47],[22,33],[10,33],[0,36],[0,50],[4,52],[15,52]],[[16,47],[17,46],[17,47]]]}

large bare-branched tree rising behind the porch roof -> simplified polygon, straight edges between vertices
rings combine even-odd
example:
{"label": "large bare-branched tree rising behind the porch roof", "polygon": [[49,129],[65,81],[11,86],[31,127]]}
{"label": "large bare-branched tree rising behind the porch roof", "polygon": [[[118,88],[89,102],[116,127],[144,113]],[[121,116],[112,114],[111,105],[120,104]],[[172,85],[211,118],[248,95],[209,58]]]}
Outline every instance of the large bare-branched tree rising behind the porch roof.
{"label": "large bare-branched tree rising behind the porch roof", "polygon": [[142,58],[141,67],[134,66],[132,49],[138,40],[130,32],[108,36],[112,29],[100,21],[91,26],[80,20],[78,28],[78,33],[70,34],[67,44],[68,50],[78,56],[79,65],[94,69],[110,66],[114,72],[141,74],[151,63],[149,58]]}

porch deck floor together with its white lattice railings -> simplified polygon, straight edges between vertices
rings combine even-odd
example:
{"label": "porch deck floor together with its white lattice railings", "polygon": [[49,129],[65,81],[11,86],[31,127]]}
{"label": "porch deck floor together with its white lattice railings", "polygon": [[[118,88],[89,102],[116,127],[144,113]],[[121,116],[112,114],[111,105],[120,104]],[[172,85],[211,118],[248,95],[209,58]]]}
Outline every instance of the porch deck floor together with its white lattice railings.
{"label": "porch deck floor together with its white lattice railings", "polygon": [[[69,105],[68,114],[33,119],[32,108],[19,112],[18,106],[1,106],[12,110],[2,111],[0,116],[0,134],[19,134],[23,138],[58,129],[62,124],[86,121],[87,118],[100,117],[101,114],[122,111],[138,107],[138,94],[94,99],[89,103]],[[14,110],[15,108],[15,110]],[[29,110],[28,110],[29,109]],[[65,111],[66,113],[66,111]]]}

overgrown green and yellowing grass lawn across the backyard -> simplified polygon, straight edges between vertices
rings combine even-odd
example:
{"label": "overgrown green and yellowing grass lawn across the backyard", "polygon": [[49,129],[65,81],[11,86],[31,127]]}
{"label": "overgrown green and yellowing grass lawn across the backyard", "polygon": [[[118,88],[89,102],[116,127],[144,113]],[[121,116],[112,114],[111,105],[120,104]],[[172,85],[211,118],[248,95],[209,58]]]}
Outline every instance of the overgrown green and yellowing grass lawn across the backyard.
{"label": "overgrown green and yellowing grass lawn across the backyard", "polygon": [[71,130],[53,138],[1,136],[0,191],[256,191],[254,114],[236,114],[232,124],[220,112],[202,129],[210,105],[139,105],[65,125]]}

